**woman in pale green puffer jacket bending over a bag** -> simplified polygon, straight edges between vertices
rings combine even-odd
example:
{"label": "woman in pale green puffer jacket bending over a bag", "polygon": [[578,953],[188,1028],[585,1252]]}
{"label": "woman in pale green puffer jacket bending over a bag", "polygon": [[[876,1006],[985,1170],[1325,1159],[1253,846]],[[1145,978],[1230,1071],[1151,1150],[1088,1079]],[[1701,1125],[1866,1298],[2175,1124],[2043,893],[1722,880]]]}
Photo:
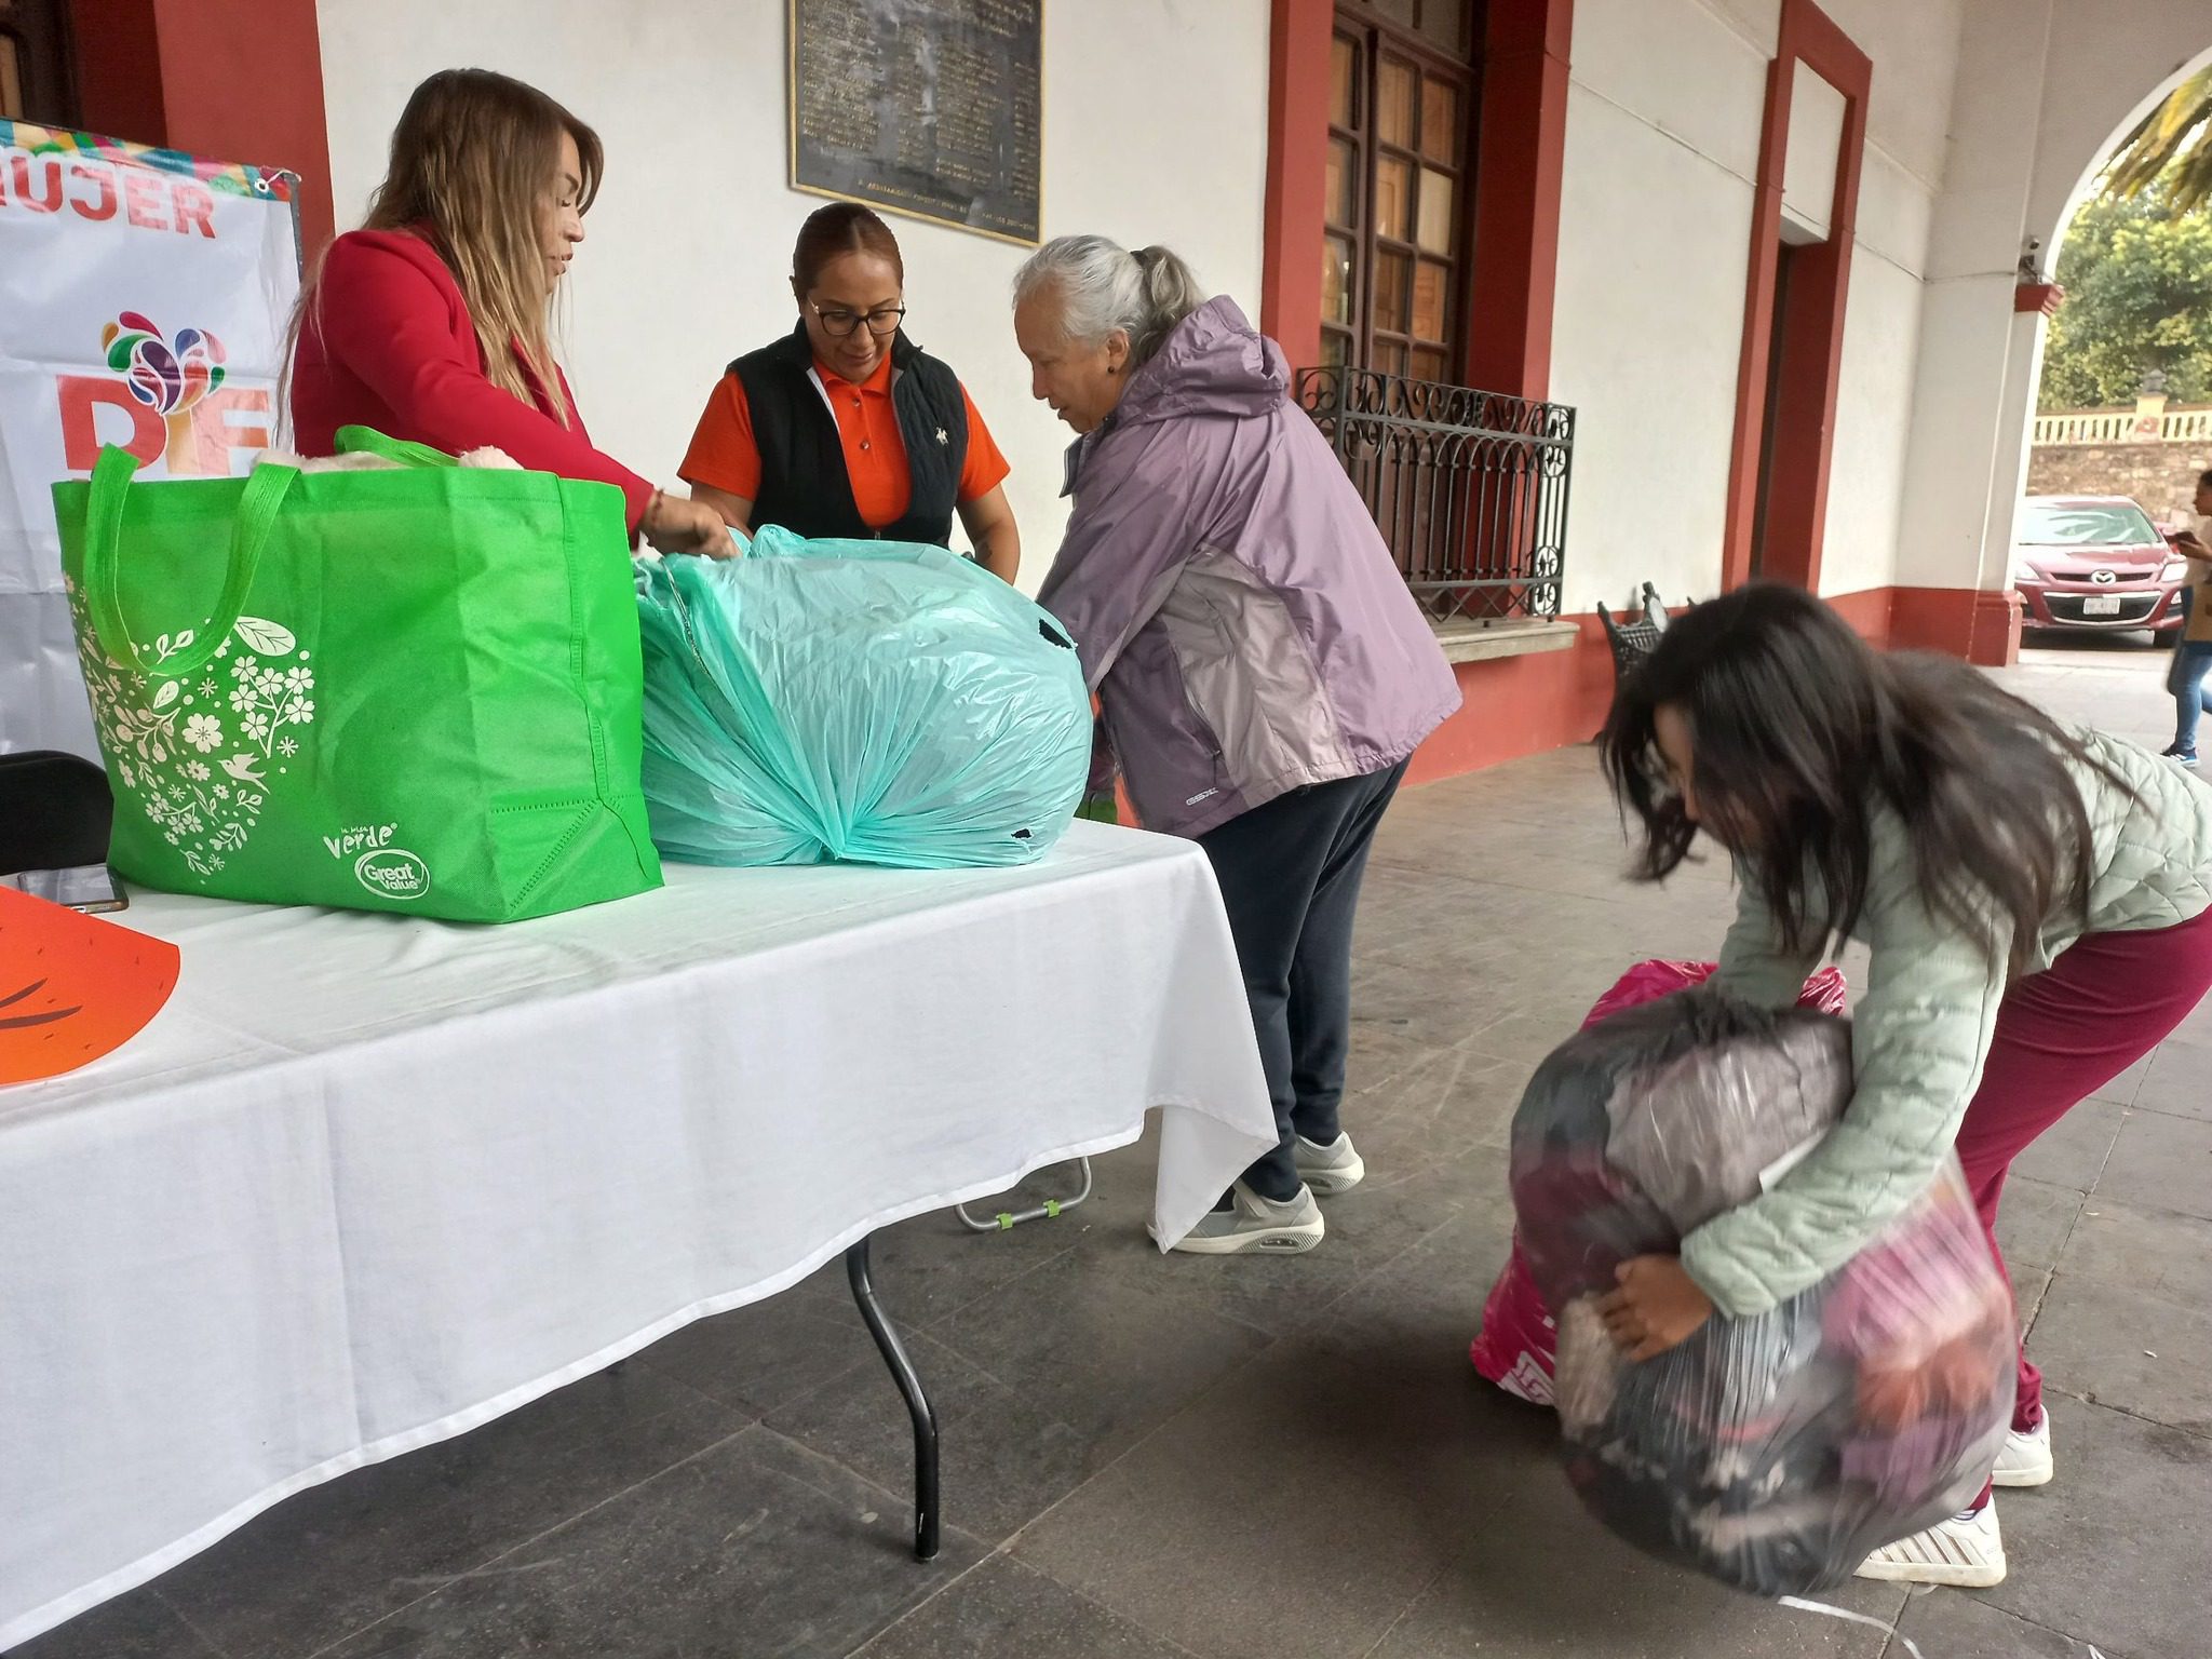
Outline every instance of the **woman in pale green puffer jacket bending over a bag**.
{"label": "woman in pale green puffer jacket bending over a bag", "polygon": [[[1717,987],[1787,1006],[1840,940],[1871,949],[1851,1106],[1679,1259],[1621,1267],[1606,1321],[1635,1358],[1816,1285],[1951,1150],[1995,1250],[2013,1159],[2212,993],[2212,787],[1964,664],[1878,657],[1801,588],[1677,619],[1621,686],[1604,759],[1641,827],[1639,876],[1663,880],[1699,832],[1736,860]],[[2022,1354],[1995,1484],[2051,1473],[2042,1376]],[[1989,1493],[1860,1573],[1997,1584]]]}

